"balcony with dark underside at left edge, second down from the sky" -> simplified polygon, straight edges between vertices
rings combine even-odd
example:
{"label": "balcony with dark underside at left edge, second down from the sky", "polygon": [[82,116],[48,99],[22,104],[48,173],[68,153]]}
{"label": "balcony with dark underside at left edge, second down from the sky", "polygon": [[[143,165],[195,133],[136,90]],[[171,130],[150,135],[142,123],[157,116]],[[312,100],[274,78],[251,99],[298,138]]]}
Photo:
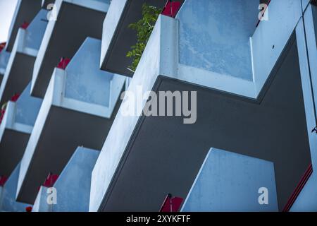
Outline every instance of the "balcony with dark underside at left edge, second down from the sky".
{"label": "balcony with dark underside at left edge, second down from the sky", "polygon": [[22,93],[32,80],[35,58],[46,30],[46,14],[47,11],[42,9],[26,29],[18,30],[0,86],[1,105],[15,93]]}

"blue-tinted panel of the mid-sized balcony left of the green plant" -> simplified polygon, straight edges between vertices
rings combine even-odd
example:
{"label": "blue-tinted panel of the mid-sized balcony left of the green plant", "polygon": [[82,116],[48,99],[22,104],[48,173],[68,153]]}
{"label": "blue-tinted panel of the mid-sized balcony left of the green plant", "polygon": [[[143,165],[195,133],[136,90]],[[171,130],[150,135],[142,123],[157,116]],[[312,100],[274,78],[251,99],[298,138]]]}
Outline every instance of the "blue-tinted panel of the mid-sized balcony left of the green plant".
{"label": "blue-tinted panel of the mid-sized balcony left of the green plant", "polygon": [[101,40],[88,37],[66,68],[65,97],[108,107],[113,73],[99,69]]}

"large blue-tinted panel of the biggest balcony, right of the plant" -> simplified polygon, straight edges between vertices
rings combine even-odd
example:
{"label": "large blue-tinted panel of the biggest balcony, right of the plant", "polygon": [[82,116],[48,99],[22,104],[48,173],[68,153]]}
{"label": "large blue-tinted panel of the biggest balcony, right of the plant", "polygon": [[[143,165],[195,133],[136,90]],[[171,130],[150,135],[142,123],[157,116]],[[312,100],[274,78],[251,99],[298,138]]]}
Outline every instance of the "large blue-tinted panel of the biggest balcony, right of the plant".
{"label": "large blue-tinted panel of the biggest balcony, right of the plant", "polygon": [[180,20],[180,64],[252,80],[249,37],[259,0],[186,0]]}

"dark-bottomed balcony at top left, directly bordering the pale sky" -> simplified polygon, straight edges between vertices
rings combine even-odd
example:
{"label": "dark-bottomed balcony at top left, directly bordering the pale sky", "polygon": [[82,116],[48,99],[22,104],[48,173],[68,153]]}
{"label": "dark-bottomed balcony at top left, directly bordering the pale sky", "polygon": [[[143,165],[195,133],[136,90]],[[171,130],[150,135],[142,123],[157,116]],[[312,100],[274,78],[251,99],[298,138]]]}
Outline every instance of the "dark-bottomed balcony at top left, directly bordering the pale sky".
{"label": "dark-bottomed balcony at top left, directly bordering the pale sky", "polygon": [[42,0],[18,0],[10,26],[6,51],[12,52],[18,30],[23,23],[30,23],[42,7]]}

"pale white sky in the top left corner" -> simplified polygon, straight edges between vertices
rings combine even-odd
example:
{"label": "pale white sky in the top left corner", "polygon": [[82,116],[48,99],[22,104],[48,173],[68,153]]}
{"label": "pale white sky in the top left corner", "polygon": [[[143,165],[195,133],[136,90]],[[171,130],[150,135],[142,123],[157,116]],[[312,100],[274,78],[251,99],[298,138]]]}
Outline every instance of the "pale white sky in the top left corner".
{"label": "pale white sky in the top left corner", "polygon": [[8,31],[18,0],[0,0],[0,43],[8,40]]}

